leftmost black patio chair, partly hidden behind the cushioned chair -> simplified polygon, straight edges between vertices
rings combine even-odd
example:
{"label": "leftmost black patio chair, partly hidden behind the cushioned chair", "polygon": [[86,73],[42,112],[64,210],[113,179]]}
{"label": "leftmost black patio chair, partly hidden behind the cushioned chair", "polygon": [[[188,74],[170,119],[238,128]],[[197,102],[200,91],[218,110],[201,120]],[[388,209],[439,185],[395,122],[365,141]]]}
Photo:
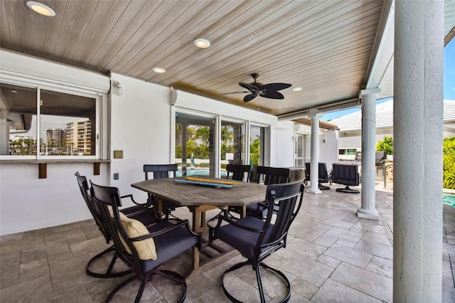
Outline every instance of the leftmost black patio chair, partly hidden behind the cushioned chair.
{"label": "leftmost black patio chair, partly hidden behind the cushioned chair", "polygon": [[[77,179],[77,184],[79,184],[80,193],[82,193],[82,197],[84,198],[84,201],[87,204],[87,208],[89,209],[90,213],[92,214],[93,219],[95,220],[95,223],[98,226],[98,229],[100,230],[103,237],[105,238],[106,243],[107,244],[111,243],[112,237],[109,234],[107,228],[103,225],[100,211],[98,210],[97,206],[93,202],[92,196],[90,195],[90,188],[88,186],[87,178],[85,176],[80,176],[79,172],[76,172],[75,176]],[[144,204],[137,203],[136,201],[134,201],[132,195],[122,196],[121,198],[131,198],[133,203],[137,204],[136,206],[122,209],[121,211],[122,211],[122,213],[124,213],[125,216],[129,216],[130,218],[140,220],[145,225],[150,225],[150,224],[156,223],[156,219],[152,215],[151,211],[149,211],[149,209],[146,207],[145,203]],[[90,269],[93,262],[100,260],[100,258],[104,257],[105,255],[107,255],[109,253],[113,253],[113,256],[112,256],[112,260],[109,263],[109,267],[107,268],[106,272],[105,273],[93,272]],[[114,245],[111,245],[109,248],[107,248],[106,250],[95,255],[95,257],[92,257],[87,262],[87,265],[85,266],[85,272],[87,272],[87,275],[90,275],[91,277],[99,277],[99,278],[122,277],[124,275],[128,275],[128,274],[132,273],[132,270],[124,270],[121,272],[112,272],[112,270],[114,269],[115,262],[117,262],[118,258],[119,258],[119,255],[117,254],[117,252],[115,252]]]}

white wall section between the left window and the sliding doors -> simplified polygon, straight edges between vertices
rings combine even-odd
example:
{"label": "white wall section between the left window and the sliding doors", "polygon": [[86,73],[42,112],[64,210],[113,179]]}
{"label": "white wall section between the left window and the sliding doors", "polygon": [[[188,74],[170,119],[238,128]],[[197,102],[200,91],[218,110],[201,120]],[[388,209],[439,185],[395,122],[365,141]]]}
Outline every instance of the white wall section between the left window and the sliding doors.
{"label": "white wall section between the left window and the sliding doors", "polygon": [[[138,202],[145,201],[146,193],[131,184],[144,179],[144,164],[170,163],[169,88],[114,73],[111,78],[123,91],[120,96],[110,94],[109,181],[122,194],[133,193]],[[123,159],[114,159],[114,150],[122,150]],[[119,174],[118,180],[114,173]]]}

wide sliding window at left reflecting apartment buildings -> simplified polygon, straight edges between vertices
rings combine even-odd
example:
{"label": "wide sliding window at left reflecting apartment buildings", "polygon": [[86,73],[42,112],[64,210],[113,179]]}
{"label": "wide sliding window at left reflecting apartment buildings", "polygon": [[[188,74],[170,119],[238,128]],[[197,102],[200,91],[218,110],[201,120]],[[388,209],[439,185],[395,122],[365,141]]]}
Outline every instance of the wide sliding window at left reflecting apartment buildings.
{"label": "wide sliding window at left reflecting apartment buildings", "polygon": [[96,119],[95,95],[0,83],[1,156],[96,156]]}

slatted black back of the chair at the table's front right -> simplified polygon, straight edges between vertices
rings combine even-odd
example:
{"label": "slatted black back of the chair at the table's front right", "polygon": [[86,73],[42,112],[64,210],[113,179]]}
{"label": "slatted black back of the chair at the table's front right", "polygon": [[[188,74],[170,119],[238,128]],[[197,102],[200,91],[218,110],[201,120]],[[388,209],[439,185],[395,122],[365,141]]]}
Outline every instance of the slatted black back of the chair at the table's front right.
{"label": "slatted black back of the chair at the table's front right", "polygon": [[[287,232],[301,208],[304,188],[303,180],[287,184],[272,184],[267,187],[265,201],[268,208],[267,218],[255,252],[255,255],[260,255],[258,263],[272,251],[286,246]],[[276,217],[272,223],[273,216]]]}

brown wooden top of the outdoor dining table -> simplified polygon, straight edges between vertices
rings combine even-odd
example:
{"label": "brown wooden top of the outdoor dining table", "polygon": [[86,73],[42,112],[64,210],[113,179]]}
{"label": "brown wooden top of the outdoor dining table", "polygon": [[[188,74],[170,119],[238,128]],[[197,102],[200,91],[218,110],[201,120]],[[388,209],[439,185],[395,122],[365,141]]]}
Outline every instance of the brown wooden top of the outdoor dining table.
{"label": "brown wooden top of the outdoor dining table", "polygon": [[[175,179],[184,180],[185,178]],[[208,179],[228,181],[218,178]],[[230,188],[216,188],[178,183],[174,181],[174,178],[149,179],[131,186],[181,206],[246,206],[264,201],[267,191],[267,186],[250,182],[242,182],[242,184]]]}

